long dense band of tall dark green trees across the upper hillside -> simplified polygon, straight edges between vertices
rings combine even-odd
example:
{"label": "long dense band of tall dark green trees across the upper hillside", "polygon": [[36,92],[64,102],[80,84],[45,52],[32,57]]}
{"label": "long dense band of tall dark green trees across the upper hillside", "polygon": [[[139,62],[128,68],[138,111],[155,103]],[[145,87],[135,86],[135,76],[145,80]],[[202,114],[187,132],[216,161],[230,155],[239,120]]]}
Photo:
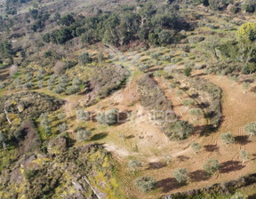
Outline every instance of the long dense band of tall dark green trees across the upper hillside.
{"label": "long dense band of tall dark green trees across the upper hillside", "polygon": [[121,12],[98,12],[91,17],[67,14],[57,19],[59,29],[43,36],[45,43],[65,44],[80,37],[85,44],[103,43],[116,46],[140,40],[150,44],[172,44],[181,39],[180,30],[189,24],[180,14],[178,4],[166,4],[156,8],[147,3],[135,6],[121,6]]}

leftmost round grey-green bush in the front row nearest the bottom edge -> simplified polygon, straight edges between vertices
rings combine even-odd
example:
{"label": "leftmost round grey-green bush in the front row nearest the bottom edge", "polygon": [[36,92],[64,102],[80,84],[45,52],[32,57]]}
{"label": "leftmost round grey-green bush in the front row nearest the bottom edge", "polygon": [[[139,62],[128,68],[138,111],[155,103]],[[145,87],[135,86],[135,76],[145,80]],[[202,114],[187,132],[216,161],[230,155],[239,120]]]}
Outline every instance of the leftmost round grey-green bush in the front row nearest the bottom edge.
{"label": "leftmost round grey-green bush in the front row nearest the bottom edge", "polygon": [[135,185],[140,188],[143,192],[148,192],[156,187],[156,179],[150,176],[143,176],[136,179]]}

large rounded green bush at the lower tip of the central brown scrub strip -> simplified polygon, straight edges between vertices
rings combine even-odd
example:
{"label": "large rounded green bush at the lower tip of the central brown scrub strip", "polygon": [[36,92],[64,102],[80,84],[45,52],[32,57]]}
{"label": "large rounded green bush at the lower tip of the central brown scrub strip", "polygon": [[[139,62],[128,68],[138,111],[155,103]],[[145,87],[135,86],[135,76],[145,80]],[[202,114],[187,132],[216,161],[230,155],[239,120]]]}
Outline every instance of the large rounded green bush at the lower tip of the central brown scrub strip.
{"label": "large rounded green bush at the lower tip of the central brown scrub strip", "polygon": [[170,139],[187,139],[189,134],[193,131],[193,125],[187,121],[168,123],[167,127],[165,128],[165,133]]}

